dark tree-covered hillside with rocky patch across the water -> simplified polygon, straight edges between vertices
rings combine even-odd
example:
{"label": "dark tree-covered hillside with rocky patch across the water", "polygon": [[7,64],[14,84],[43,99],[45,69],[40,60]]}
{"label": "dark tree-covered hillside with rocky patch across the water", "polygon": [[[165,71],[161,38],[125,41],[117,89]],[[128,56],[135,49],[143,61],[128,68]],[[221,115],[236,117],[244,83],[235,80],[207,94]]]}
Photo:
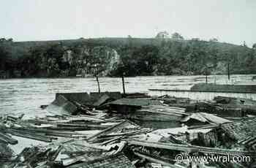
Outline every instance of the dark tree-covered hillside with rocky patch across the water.
{"label": "dark tree-covered hillside with rocky patch across the water", "polygon": [[0,39],[0,77],[256,73],[256,45],[183,38]]}

